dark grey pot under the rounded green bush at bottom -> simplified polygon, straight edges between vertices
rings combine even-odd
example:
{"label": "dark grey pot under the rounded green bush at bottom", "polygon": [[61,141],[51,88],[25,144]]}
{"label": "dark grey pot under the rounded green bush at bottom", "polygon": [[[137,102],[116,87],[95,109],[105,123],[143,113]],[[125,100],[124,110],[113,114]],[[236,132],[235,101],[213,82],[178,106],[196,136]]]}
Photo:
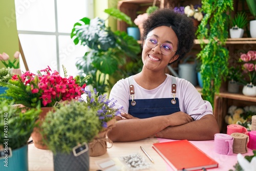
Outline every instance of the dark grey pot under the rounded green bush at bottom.
{"label": "dark grey pot under the rounded green bush at bottom", "polygon": [[74,156],[73,152],[70,154],[57,153],[53,156],[54,171],[84,171],[90,169],[89,151]]}

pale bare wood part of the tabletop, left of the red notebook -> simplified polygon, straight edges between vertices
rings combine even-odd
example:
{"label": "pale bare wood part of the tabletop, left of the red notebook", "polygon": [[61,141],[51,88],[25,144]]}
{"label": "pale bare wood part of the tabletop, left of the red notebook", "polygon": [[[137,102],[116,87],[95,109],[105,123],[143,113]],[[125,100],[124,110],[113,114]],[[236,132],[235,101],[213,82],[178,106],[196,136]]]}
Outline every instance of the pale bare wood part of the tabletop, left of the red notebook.
{"label": "pale bare wood part of the tabletop, left of the red notebook", "polygon": [[[151,169],[149,170],[167,170],[165,161],[157,154],[152,148],[152,143],[159,142],[156,138],[148,138],[135,142],[115,142],[111,148],[108,148],[106,154],[99,157],[90,157],[90,170],[96,171],[99,169],[96,162],[102,160],[114,159],[116,160],[120,156],[126,156],[130,154],[139,153],[141,156],[147,157],[141,151],[142,146],[145,151],[152,156],[155,164],[151,163]],[[108,143],[109,146],[111,144]],[[28,145],[28,158],[29,158],[29,171],[52,171],[53,170],[53,154],[46,149],[38,149],[34,144]],[[148,159],[147,159],[148,160]],[[148,160],[149,161],[149,160]],[[73,170],[75,171],[75,170]]]}

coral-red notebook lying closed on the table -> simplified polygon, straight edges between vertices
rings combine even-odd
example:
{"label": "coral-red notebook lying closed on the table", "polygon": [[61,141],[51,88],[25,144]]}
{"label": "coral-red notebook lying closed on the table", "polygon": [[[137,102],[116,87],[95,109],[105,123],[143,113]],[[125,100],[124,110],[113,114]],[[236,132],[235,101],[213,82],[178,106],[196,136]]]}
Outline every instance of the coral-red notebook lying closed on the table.
{"label": "coral-red notebook lying closed on the table", "polygon": [[153,143],[153,148],[174,170],[218,167],[218,162],[188,140]]}

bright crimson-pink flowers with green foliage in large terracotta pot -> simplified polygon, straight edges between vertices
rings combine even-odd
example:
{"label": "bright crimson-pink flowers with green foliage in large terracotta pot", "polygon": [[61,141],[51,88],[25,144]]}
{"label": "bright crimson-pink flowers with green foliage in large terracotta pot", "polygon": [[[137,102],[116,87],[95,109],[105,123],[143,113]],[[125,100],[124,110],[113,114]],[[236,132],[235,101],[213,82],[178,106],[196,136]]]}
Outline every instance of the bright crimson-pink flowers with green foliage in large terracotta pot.
{"label": "bright crimson-pink flowers with green foliage in large terracotta pot", "polygon": [[82,88],[86,87],[82,83],[79,76],[61,77],[57,71],[52,72],[48,67],[37,74],[27,71],[21,76],[13,75],[6,85],[9,88],[6,95],[28,108],[38,105],[51,107],[59,101],[80,98]]}

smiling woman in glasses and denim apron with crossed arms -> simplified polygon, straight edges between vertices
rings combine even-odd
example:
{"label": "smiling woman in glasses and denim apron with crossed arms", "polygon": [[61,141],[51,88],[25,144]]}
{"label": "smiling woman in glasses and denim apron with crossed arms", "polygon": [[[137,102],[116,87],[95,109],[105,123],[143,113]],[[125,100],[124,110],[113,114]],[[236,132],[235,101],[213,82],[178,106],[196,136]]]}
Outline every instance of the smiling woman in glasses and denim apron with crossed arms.
{"label": "smiling woman in glasses and denim apron with crossed arms", "polygon": [[214,139],[219,127],[211,104],[189,81],[164,72],[193,47],[192,20],[170,9],[159,9],[145,20],[143,28],[143,68],[112,88],[110,99],[117,100],[116,108],[122,112],[108,137],[112,141]]}

